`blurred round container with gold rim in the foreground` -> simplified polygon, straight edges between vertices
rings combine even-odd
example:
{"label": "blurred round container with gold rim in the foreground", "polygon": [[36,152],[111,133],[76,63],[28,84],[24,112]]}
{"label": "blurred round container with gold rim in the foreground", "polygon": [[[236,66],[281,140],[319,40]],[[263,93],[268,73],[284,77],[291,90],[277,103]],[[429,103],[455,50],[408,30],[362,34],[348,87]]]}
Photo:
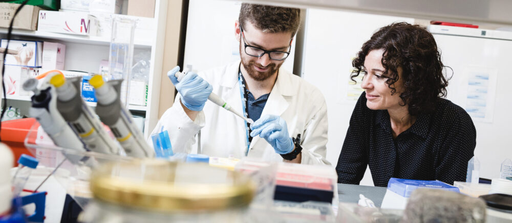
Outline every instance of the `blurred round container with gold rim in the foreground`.
{"label": "blurred round container with gold rim in the foreground", "polygon": [[242,172],[159,159],[114,162],[91,175],[82,222],[250,222],[255,186]]}

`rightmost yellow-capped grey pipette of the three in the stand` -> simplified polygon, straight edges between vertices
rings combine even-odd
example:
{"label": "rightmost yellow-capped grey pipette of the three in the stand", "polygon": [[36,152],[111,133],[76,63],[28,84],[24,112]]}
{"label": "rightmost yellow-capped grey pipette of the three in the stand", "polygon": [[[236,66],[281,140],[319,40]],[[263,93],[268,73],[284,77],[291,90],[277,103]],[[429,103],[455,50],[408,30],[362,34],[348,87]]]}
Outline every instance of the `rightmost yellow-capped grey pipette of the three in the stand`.
{"label": "rightmost yellow-capped grey pipette of the three in the stand", "polygon": [[154,157],[155,151],[144,140],[142,132],[134,123],[132,113],[120,101],[122,81],[110,80],[105,83],[99,75],[89,80],[91,86],[96,89],[96,114],[110,127],[126,155],[138,158]]}

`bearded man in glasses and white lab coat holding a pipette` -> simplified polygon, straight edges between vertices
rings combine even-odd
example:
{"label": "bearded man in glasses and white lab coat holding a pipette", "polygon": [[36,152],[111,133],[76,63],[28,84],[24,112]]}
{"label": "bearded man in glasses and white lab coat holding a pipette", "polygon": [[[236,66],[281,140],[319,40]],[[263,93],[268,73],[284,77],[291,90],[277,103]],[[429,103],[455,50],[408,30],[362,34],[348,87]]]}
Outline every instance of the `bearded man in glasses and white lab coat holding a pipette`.
{"label": "bearded man in glasses and white lab coat holding a pipette", "polygon": [[[179,94],[152,134],[167,130],[175,153],[190,153],[199,133],[199,154],[329,164],[324,96],[280,69],[299,24],[299,9],[242,4],[235,22],[241,60],[180,81],[179,67],[169,71]],[[211,92],[255,122],[206,102]]]}

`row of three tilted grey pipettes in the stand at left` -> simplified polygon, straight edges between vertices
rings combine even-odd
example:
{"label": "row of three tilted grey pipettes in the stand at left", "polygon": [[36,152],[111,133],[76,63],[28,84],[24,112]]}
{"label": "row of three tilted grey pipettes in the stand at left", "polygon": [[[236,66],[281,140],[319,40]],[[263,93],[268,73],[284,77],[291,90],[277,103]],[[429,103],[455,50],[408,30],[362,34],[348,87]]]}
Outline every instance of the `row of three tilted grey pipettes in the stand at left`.
{"label": "row of three tilted grey pipettes in the stand at left", "polygon": [[[52,70],[43,83],[38,82],[29,79],[23,84],[24,90],[34,92],[29,115],[36,118],[55,145],[80,152],[113,155],[124,152],[131,157],[154,157],[132,114],[120,101],[122,80],[104,82],[99,75],[91,78],[89,83],[95,88],[97,98],[95,112],[81,97],[81,77],[65,79],[60,71]],[[122,150],[105,131],[102,122],[110,128]],[[89,162],[81,155],[65,156],[72,163]]]}

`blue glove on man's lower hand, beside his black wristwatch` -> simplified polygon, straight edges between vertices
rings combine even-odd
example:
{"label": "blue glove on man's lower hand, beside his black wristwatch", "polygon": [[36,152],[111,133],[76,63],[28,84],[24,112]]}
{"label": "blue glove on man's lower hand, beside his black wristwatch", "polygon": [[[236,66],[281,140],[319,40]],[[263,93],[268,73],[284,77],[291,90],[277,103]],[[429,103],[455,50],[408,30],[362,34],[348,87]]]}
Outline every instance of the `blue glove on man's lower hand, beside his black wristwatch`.
{"label": "blue glove on man's lower hand, beside his black wristwatch", "polygon": [[288,134],[285,119],[277,115],[263,115],[251,124],[251,136],[259,135],[272,145],[275,153],[288,154],[293,151],[293,141]]}

